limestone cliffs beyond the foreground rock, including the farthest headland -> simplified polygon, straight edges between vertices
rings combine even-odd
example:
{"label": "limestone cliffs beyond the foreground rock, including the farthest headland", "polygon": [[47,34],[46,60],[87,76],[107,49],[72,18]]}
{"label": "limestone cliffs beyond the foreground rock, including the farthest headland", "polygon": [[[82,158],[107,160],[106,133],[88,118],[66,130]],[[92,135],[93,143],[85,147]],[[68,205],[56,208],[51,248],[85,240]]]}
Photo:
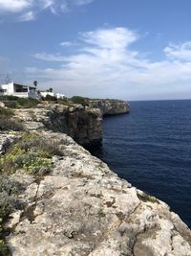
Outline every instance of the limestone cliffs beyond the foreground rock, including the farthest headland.
{"label": "limestone cliffs beyond the foreground rock, including the farthest headland", "polygon": [[82,146],[102,141],[102,119],[106,115],[129,112],[129,105],[117,100],[89,100],[88,106],[44,103],[30,109],[16,109],[15,116],[29,130],[51,129],[64,132]]}

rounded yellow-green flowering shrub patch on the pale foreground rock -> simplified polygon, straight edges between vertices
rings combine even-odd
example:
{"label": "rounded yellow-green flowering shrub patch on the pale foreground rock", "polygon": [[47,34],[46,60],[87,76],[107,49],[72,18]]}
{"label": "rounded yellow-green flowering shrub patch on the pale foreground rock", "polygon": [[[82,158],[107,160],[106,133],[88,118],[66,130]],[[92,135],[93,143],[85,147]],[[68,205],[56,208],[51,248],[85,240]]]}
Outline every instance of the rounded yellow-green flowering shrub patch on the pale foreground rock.
{"label": "rounded yellow-green flowering shrub patch on the pale foreground rock", "polygon": [[52,167],[52,156],[61,155],[53,142],[36,134],[25,134],[7,153],[0,157],[0,172],[14,173],[24,169],[32,175],[45,175]]}

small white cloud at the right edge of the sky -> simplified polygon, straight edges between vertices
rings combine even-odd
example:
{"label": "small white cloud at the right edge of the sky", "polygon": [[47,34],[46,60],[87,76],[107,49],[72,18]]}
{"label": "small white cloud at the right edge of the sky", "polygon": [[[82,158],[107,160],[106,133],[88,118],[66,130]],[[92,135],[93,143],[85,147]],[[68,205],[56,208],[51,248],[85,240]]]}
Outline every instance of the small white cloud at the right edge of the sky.
{"label": "small white cloud at the right edge of the sky", "polygon": [[164,52],[168,58],[191,61],[191,41],[179,45],[170,44],[164,48]]}

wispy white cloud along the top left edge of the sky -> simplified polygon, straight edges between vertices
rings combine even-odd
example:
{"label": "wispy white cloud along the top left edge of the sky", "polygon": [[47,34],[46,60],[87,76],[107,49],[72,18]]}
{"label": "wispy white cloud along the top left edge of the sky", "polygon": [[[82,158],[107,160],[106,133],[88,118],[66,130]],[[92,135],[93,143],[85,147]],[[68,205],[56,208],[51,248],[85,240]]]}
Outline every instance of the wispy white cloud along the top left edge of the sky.
{"label": "wispy white cloud along the top left edge of the sky", "polygon": [[[94,0],[0,0],[0,12],[4,15],[20,13],[21,21],[33,19],[33,13],[50,10],[53,13],[69,12],[88,5]],[[22,18],[23,17],[23,18]]]}

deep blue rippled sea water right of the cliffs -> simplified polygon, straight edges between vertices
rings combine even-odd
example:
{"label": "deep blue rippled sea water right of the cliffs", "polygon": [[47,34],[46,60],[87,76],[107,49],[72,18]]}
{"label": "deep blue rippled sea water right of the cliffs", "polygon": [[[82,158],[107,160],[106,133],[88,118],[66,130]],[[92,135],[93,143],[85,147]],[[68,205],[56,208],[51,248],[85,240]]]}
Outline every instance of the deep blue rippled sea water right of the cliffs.
{"label": "deep blue rippled sea water right of the cliffs", "polygon": [[103,145],[92,153],[191,227],[191,101],[130,102],[130,108],[104,119]]}

